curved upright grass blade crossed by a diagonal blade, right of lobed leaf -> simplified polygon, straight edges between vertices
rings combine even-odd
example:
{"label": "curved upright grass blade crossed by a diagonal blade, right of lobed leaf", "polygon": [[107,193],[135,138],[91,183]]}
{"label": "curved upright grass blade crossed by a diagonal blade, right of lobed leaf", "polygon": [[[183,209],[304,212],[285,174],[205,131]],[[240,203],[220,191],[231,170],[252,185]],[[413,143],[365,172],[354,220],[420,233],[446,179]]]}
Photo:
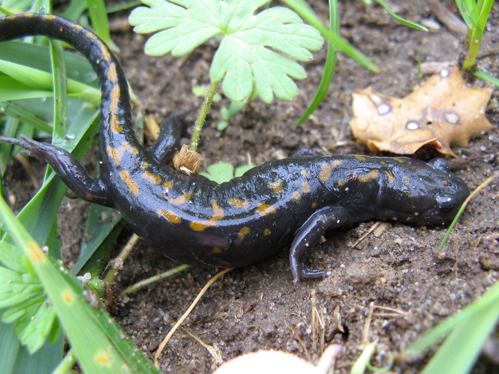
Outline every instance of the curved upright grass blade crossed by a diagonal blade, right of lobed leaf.
{"label": "curved upright grass blade crossed by a diagonal blade, right of lobed leaf", "polygon": [[[329,31],[336,35],[339,33],[337,0],[329,0]],[[319,107],[322,100],[324,100],[324,97],[326,97],[327,91],[329,90],[329,84],[333,79],[334,69],[336,68],[337,55],[338,48],[329,42],[327,46],[326,63],[324,64],[324,73],[320,79],[319,88],[317,89],[317,93],[315,94],[312,103],[296,123],[296,127],[300,126],[315,111],[315,109]]]}

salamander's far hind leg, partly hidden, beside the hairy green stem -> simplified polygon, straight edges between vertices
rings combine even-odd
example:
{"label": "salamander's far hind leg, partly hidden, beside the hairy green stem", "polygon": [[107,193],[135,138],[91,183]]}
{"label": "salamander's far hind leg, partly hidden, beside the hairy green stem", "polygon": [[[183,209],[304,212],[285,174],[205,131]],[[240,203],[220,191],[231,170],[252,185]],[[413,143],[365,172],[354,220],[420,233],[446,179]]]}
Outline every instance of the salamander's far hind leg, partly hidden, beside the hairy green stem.
{"label": "salamander's far hind leg, partly hidden, beside the hairy green stem", "polygon": [[175,151],[180,148],[180,135],[186,113],[170,115],[161,123],[158,139],[150,148],[151,153],[159,162],[171,161]]}

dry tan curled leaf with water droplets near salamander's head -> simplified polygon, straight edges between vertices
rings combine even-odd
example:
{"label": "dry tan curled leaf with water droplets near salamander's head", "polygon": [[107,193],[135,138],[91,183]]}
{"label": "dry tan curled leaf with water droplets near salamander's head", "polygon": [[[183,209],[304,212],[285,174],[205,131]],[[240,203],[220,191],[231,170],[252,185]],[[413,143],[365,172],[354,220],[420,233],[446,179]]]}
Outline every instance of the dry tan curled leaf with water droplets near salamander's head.
{"label": "dry tan curled leaf with water droplets near salamander's head", "polygon": [[470,138],[493,128],[485,117],[491,88],[468,87],[456,66],[431,76],[403,99],[373,92],[353,94],[350,121],[359,144],[373,151],[411,155],[423,146],[456,156],[450,145],[467,147]]}

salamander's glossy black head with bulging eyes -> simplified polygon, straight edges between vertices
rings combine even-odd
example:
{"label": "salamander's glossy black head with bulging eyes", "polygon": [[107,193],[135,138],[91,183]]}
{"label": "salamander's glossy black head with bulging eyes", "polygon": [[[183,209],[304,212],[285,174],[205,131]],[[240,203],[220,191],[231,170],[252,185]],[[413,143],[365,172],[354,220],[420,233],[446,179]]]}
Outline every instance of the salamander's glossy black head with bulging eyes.
{"label": "salamander's glossy black head with bulging eyes", "polygon": [[464,181],[443,159],[428,163],[405,159],[380,184],[376,202],[380,219],[439,224],[452,220],[470,194]]}

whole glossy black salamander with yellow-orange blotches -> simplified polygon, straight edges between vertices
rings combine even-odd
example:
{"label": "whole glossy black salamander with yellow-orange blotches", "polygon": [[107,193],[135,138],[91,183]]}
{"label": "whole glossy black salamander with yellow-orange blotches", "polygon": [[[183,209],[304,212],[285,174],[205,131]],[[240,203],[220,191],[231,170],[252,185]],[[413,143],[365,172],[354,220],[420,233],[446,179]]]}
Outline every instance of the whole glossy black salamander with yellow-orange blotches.
{"label": "whole glossy black salamander with yellow-orange blotches", "polygon": [[294,283],[323,277],[303,264],[326,229],[371,220],[439,224],[469,195],[447,163],[405,157],[323,156],[301,149],[217,184],[166,163],[180,118],[161,126],[150,149],[137,139],[125,75],[94,33],[52,14],[0,18],[0,41],[45,35],[73,45],[100,82],[100,178],[91,179],[68,152],[22,137],[0,138],[45,160],[81,199],[121,212],[132,229],[167,257],[191,265],[242,266],[289,246]]}

